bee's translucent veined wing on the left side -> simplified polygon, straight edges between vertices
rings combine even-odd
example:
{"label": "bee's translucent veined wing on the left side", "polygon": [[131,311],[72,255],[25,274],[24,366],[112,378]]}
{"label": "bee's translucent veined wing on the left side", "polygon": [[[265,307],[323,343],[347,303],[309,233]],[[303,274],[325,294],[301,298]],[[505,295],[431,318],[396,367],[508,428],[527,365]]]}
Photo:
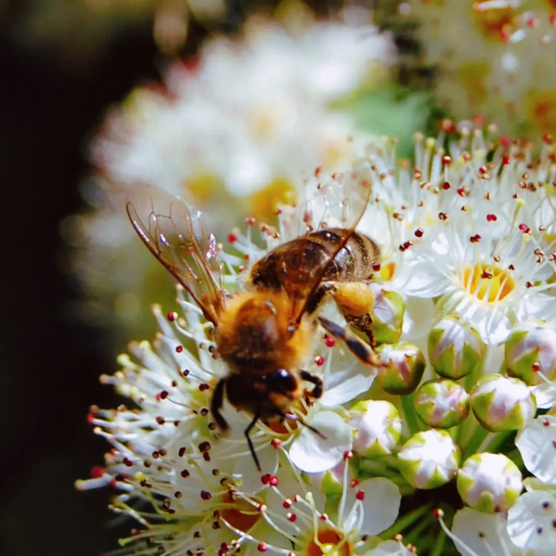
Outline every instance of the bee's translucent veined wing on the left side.
{"label": "bee's translucent veined wing on the left side", "polygon": [[127,215],[153,255],[185,287],[206,319],[216,322],[225,304],[223,263],[201,213],[158,187],[133,186]]}

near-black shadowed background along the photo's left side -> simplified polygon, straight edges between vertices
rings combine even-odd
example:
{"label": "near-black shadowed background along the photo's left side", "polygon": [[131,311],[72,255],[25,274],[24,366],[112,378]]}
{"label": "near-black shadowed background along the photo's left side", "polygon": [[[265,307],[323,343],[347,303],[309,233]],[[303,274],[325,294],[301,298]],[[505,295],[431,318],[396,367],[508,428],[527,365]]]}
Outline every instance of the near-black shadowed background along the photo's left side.
{"label": "near-black shadowed background along the photo's left side", "polygon": [[[85,210],[78,186],[90,171],[87,139],[106,109],[157,78],[163,60],[148,18],[121,25],[82,60],[69,38],[66,53],[63,37],[56,48],[29,42],[21,22],[32,1],[0,6],[0,550],[90,556],[117,549],[118,536],[131,527],[114,524],[108,490],[74,486],[107,450],[86,422],[88,408],[121,400],[98,383],[117,368],[107,331],[72,314],[78,291],[63,270],[58,225]],[[244,15],[238,7],[230,14],[225,31]],[[206,32],[193,22],[182,54],[194,52]]]}

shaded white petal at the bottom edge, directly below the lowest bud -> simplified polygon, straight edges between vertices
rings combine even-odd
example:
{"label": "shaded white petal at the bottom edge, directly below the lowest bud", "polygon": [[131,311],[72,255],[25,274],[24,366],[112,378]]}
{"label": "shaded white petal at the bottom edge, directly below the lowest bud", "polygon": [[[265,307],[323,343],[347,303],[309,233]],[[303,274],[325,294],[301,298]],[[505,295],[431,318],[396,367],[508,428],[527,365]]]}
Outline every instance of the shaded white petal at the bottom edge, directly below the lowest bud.
{"label": "shaded white petal at the bottom edge, directly below the lowest bud", "polygon": [[510,542],[506,531],[506,518],[503,514],[485,514],[471,508],[464,508],[455,514],[451,531],[461,540],[461,542],[455,540],[455,545],[463,556],[493,556],[493,554],[525,556],[522,550],[514,547]]}

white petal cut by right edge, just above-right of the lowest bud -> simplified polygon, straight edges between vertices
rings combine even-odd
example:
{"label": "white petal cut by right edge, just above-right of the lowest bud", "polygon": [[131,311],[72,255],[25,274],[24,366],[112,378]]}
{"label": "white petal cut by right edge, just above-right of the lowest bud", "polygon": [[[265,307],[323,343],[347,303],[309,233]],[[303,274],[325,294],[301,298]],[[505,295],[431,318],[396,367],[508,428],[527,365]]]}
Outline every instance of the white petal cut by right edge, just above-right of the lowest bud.
{"label": "white petal cut by right edge, just above-right of the lowest bud", "polygon": [[556,485],[556,416],[542,415],[515,439],[525,467],[544,483]]}

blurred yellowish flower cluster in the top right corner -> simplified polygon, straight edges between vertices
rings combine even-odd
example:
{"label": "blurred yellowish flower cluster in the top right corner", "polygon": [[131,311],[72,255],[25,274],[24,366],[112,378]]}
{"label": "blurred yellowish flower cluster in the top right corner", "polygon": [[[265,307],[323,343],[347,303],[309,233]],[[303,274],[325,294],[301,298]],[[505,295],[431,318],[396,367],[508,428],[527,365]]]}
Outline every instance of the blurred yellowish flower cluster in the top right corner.
{"label": "blurred yellowish flower cluster in the top right corner", "polygon": [[[435,95],[450,117],[478,115],[508,132],[554,132],[554,3],[531,0],[436,2],[398,6],[416,23],[423,57],[436,68]],[[415,63],[415,61],[414,61]]]}

